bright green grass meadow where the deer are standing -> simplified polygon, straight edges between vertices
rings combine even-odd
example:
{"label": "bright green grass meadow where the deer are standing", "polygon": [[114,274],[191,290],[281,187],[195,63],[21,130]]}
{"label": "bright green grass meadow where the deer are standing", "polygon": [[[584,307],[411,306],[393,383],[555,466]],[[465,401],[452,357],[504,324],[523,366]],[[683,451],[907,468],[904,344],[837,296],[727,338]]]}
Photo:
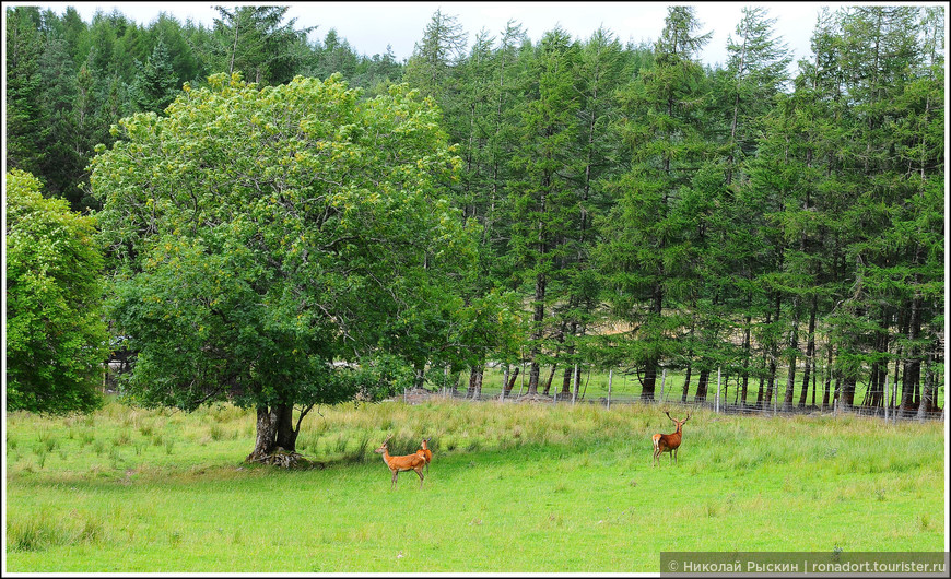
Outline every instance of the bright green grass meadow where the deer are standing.
{"label": "bright green grass meadow where the deer are standing", "polygon": [[[944,548],[942,423],[700,411],[680,463],[653,468],[662,410],[325,406],[298,440],[325,468],[300,471],[244,464],[254,415],[230,406],[13,413],[7,569],[656,572],[660,551]],[[390,492],[387,434],[394,453],[431,437],[422,491],[403,473]]]}

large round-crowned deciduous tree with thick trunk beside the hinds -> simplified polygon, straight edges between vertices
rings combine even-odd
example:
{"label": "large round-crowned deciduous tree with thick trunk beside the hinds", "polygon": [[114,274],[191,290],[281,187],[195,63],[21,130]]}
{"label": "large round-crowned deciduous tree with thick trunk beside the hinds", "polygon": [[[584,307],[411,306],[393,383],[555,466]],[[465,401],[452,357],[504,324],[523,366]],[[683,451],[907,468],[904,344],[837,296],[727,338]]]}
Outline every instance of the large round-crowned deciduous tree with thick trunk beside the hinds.
{"label": "large round-crowned deciduous tree with thick trunk beside the hinds", "polygon": [[406,86],[362,102],[339,75],[259,90],[219,74],[166,115],[124,119],[92,163],[109,310],[139,351],[129,393],[256,409],[259,460],[293,451],[315,404],[406,386],[410,336],[449,332],[473,256],[432,102]]}

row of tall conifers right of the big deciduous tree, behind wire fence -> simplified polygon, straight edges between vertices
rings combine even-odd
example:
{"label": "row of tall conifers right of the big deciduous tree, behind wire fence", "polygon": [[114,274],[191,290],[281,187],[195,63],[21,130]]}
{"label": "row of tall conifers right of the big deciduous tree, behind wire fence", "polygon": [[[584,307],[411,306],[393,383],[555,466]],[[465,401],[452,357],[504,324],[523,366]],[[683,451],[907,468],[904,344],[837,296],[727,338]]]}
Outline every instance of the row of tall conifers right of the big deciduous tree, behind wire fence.
{"label": "row of tall conifers right of the big deciduous tree, behind wire fence", "polygon": [[481,279],[530,315],[528,392],[550,393],[555,368],[567,392],[585,365],[621,364],[647,399],[661,367],[685,373],[684,400],[721,368],[755,404],[785,382],[786,409],[810,391],[881,406],[892,368],[901,406],[935,411],[943,17],[823,11],[790,75],[762,8],[743,10],[716,68],[698,61],[709,33],[689,7],[668,10],[655,43],[603,28],[531,43],[510,22],[465,52],[436,12],[403,80],[459,143]]}

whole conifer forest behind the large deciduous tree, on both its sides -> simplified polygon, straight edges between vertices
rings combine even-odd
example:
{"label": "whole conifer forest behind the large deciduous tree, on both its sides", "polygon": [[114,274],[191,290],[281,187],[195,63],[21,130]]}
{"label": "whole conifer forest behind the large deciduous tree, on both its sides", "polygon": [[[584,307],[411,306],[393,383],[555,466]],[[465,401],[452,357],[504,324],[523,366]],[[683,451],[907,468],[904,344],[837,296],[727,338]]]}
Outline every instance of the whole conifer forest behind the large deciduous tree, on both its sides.
{"label": "whole conifer forest behind the large deciduous tree, on both its sides", "polygon": [[438,107],[455,155],[446,194],[472,243],[468,274],[434,265],[432,239],[412,267],[392,258],[408,277],[432,265],[451,283],[420,284],[430,294],[414,316],[390,312],[400,326],[351,305],[386,328],[373,343],[400,353],[410,383],[456,387],[468,370],[478,390],[488,363],[525,362],[528,393],[550,394],[586,366],[622,365],[645,399],[674,368],[683,399],[702,401],[720,368],[752,404],[783,391],[783,407],[810,392],[822,406],[881,406],[889,383],[906,413],[937,410],[943,7],[823,11],[795,71],[762,8],[743,10],[716,67],[698,60],[709,34],[690,7],[668,9],[656,42],[626,45],[607,28],[532,42],[515,21],[469,43],[437,11],[406,62],[359,56],[332,29],[309,43],[285,11],[221,8],[212,27],[166,15],[143,27],[117,12],[85,24],[72,9],[8,9],[8,167],[73,209],[101,209],[96,145],[129,139],[129,123],[109,131],[120,118],[168,115],[185,82],[197,93],[226,91],[215,72],[262,87],[339,73],[362,88],[353,97],[397,109],[403,84]]}

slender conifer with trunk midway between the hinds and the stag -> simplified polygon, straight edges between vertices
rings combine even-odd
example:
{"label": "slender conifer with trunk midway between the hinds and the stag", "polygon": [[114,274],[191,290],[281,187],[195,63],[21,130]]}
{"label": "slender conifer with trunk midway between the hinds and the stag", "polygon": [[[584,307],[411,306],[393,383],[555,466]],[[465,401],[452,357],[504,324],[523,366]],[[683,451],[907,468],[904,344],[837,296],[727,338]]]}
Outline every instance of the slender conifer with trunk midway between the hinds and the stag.
{"label": "slender conifer with trunk midway between the hinds and the stag", "polygon": [[567,276],[575,261],[579,174],[577,155],[580,98],[575,87],[578,46],[555,27],[542,36],[524,69],[519,146],[513,159],[509,214],[513,259],[519,280],[530,287],[531,334],[527,343],[530,370],[528,394],[538,392],[541,365],[557,320],[551,307],[567,297]]}

